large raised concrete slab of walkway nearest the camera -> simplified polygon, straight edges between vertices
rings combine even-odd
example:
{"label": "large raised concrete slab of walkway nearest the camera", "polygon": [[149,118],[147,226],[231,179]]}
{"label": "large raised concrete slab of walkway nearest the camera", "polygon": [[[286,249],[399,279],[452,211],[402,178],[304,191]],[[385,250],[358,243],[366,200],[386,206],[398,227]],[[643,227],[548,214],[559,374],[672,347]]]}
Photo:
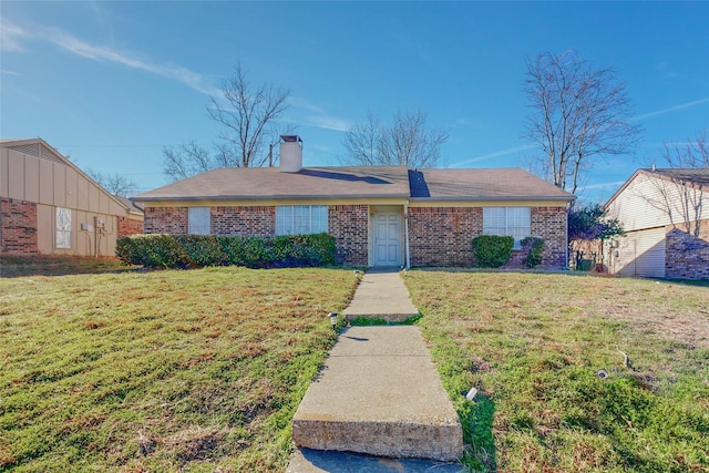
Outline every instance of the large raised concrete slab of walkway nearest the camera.
{"label": "large raised concrete slab of walkway nearest the camera", "polygon": [[296,445],[453,461],[458,414],[414,326],[346,329],[292,421]]}

